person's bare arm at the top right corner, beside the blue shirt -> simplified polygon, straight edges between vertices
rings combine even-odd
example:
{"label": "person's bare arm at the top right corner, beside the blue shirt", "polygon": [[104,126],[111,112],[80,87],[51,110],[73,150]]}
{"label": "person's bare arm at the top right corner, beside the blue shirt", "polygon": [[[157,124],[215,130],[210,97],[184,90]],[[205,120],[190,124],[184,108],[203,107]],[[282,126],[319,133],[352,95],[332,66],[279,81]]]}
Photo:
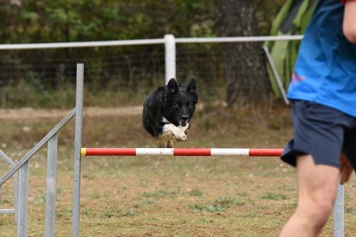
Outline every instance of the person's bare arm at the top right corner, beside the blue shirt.
{"label": "person's bare arm at the top right corner, beside the blue shirt", "polygon": [[356,1],[345,1],[344,20],[342,23],[342,31],[344,32],[347,41],[356,43]]}

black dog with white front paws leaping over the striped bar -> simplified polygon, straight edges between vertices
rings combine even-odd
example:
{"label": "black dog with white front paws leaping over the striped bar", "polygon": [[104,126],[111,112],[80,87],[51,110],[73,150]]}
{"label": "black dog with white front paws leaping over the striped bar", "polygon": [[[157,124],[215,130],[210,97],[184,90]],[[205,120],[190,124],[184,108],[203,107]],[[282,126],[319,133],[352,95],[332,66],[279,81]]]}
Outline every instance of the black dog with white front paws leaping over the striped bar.
{"label": "black dog with white front paws leaping over the striped bar", "polygon": [[186,141],[189,121],[198,102],[197,82],[190,78],[187,88],[172,78],[147,96],[143,103],[142,124],[157,147],[173,147],[173,140]]}

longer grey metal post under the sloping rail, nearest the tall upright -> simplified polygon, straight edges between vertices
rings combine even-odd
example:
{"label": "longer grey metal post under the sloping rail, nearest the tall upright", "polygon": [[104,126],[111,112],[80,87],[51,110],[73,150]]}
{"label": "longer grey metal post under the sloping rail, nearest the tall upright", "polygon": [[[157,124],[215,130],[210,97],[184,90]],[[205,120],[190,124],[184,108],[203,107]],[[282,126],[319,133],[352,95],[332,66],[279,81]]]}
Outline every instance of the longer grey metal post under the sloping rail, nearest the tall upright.
{"label": "longer grey metal post under the sloping rail, nearest the tall upright", "polygon": [[54,237],[56,220],[57,133],[48,140],[45,236]]}

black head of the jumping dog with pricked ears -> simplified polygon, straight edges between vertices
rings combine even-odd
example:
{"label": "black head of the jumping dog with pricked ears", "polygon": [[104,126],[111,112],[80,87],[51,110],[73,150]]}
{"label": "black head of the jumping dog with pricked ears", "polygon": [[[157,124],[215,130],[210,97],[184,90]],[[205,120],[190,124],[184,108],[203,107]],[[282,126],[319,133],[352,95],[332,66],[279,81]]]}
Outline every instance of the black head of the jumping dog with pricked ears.
{"label": "black head of the jumping dog with pricked ears", "polygon": [[186,88],[178,85],[172,78],[165,93],[164,117],[174,125],[184,127],[193,117],[198,97],[197,82],[194,78],[189,78]]}

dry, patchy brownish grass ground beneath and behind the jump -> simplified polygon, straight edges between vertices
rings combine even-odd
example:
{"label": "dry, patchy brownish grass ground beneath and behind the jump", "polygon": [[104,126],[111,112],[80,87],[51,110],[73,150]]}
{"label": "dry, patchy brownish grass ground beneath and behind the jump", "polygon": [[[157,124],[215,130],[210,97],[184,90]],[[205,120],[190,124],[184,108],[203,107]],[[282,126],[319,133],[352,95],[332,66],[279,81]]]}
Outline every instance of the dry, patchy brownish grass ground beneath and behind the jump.
{"label": "dry, patchy brownish grass ground beneath and behind the jump", "polygon": [[[140,120],[84,117],[83,147],[155,147]],[[1,149],[19,159],[57,122],[1,120]],[[209,105],[176,147],[283,147],[291,128],[286,107]],[[56,236],[71,236],[73,134],[71,121],[58,135]],[[30,167],[28,235],[43,236],[46,147]],[[6,170],[0,165],[0,175]],[[345,236],[356,235],[354,182],[345,189]],[[295,187],[295,169],[276,157],[86,157],[80,236],[277,236],[295,209]],[[12,181],[1,191],[1,208],[11,208]],[[12,215],[0,216],[0,228],[1,236],[16,236]],[[332,235],[330,218],[321,236]]]}

